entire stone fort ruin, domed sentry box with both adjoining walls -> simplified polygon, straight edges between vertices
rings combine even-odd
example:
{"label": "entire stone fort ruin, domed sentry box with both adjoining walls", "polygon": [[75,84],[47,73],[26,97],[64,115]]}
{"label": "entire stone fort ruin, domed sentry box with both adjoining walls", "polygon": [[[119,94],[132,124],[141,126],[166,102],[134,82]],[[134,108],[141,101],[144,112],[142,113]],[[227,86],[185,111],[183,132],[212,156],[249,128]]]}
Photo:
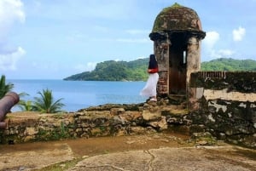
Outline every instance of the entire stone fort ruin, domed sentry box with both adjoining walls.
{"label": "entire stone fort ruin, domed sentry box with both adjoining walls", "polygon": [[156,16],[149,37],[160,69],[157,102],[9,114],[0,143],[182,130],[255,149],[256,72],[201,71],[206,32],[195,10],[177,3]]}

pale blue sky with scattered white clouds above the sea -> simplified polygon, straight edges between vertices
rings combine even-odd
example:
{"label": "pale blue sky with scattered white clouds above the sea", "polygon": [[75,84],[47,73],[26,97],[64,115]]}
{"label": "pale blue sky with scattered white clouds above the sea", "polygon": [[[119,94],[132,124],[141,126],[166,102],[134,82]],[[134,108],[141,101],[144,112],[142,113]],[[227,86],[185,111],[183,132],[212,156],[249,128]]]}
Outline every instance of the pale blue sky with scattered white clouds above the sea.
{"label": "pale blue sky with scattered white clouds above the sea", "polygon": [[147,58],[154,19],[173,3],[199,15],[202,61],[256,60],[256,0],[0,0],[0,74],[62,79],[106,60]]}

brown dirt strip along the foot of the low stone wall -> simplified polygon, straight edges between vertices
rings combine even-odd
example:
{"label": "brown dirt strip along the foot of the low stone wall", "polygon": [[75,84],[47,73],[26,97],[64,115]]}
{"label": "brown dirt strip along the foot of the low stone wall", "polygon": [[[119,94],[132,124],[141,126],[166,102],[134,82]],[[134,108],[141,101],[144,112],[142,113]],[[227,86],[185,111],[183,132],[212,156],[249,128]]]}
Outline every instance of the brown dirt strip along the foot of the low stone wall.
{"label": "brown dirt strip along the foot of the low stone wall", "polygon": [[0,145],[0,170],[12,170],[24,165],[43,168],[74,158],[113,152],[182,147],[189,145],[186,143],[188,139],[188,136],[181,134],[148,134]]}

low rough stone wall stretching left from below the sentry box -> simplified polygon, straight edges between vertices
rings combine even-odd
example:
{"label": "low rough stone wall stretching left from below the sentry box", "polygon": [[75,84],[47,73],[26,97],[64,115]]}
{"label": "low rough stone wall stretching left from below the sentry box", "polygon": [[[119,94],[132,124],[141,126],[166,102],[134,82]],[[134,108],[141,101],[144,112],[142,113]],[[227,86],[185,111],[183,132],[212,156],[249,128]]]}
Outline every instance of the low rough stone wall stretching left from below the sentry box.
{"label": "low rough stone wall stretching left from below the sentry box", "polygon": [[[7,128],[0,129],[0,144],[156,133],[173,125],[191,123],[184,122],[183,116],[188,111],[182,101],[162,99],[135,105],[99,105],[59,114],[9,113],[4,120]],[[189,129],[183,134],[189,134]]]}

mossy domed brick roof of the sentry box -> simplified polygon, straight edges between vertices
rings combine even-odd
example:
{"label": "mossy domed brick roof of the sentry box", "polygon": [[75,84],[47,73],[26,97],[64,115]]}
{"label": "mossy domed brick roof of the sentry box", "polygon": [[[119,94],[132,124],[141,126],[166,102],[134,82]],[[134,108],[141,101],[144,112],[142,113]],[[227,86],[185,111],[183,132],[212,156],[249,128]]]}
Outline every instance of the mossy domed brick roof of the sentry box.
{"label": "mossy domed brick roof of the sentry box", "polygon": [[195,10],[174,3],[163,9],[154,20],[152,33],[163,31],[200,31],[201,21]]}

